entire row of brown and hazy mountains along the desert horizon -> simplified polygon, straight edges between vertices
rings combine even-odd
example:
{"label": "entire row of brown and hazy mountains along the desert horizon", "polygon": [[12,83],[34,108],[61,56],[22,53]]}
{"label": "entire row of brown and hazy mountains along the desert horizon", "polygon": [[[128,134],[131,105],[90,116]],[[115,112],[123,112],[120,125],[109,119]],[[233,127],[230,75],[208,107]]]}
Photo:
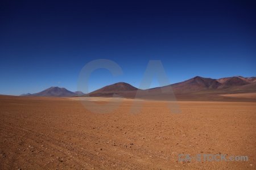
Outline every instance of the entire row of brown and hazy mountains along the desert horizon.
{"label": "entire row of brown and hazy mountains along the desert horizon", "polygon": [[[242,76],[233,76],[229,78],[203,78],[195,76],[194,78],[185,80],[184,82],[170,84],[164,87],[155,87],[148,90],[141,90],[148,92],[142,98],[151,99],[167,99],[168,94],[161,93],[161,91],[169,90],[170,86],[174,91],[177,99],[220,99],[221,95],[225,94],[244,94],[256,92],[256,77],[244,78]],[[71,92],[65,88],[50,87],[46,90],[36,94],[23,94],[22,96],[94,96],[94,97],[112,97],[119,95],[126,98],[134,98],[136,92],[140,90],[125,82],[114,83],[109,86],[102,87],[89,94],[83,94],[80,91]],[[223,96],[222,96],[223,97]]]}

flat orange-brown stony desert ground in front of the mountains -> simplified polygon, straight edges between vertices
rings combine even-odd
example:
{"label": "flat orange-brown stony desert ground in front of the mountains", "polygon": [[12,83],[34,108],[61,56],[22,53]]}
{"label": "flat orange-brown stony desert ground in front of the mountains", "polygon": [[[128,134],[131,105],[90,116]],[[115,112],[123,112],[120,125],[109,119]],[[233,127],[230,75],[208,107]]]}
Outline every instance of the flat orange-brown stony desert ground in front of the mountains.
{"label": "flat orange-brown stony desert ground in front of the mountains", "polygon": [[144,101],[130,114],[132,102],[97,114],[68,97],[0,96],[0,169],[256,169],[256,103],[179,101],[172,114],[164,101]]}

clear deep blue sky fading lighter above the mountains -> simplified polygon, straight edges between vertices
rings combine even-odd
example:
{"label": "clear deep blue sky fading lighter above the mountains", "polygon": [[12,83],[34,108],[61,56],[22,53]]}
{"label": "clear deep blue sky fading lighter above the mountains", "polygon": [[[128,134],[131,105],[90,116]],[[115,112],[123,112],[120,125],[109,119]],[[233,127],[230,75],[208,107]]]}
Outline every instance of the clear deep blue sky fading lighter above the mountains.
{"label": "clear deep blue sky fading lighter above the mountains", "polygon": [[[77,91],[95,59],[122,69],[93,71],[89,91],[139,87],[148,61],[162,61],[170,83],[194,76],[256,76],[255,1],[1,1],[0,94],[52,86]],[[150,87],[158,87],[156,78]]]}

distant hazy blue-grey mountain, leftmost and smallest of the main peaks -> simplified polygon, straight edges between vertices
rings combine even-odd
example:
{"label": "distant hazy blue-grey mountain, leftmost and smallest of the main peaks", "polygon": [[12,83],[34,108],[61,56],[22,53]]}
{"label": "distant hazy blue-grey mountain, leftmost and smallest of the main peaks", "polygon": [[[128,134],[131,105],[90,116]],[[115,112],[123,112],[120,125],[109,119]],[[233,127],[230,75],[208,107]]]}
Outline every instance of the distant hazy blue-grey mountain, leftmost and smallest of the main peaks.
{"label": "distant hazy blue-grey mountain, leftmost and smallest of the main peaks", "polygon": [[52,97],[69,97],[69,96],[77,96],[77,94],[68,91],[65,88],[60,88],[60,87],[50,87],[47,88],[46,90],[36,93],[36,94],[31,94],[29,96],[52,96]]}

